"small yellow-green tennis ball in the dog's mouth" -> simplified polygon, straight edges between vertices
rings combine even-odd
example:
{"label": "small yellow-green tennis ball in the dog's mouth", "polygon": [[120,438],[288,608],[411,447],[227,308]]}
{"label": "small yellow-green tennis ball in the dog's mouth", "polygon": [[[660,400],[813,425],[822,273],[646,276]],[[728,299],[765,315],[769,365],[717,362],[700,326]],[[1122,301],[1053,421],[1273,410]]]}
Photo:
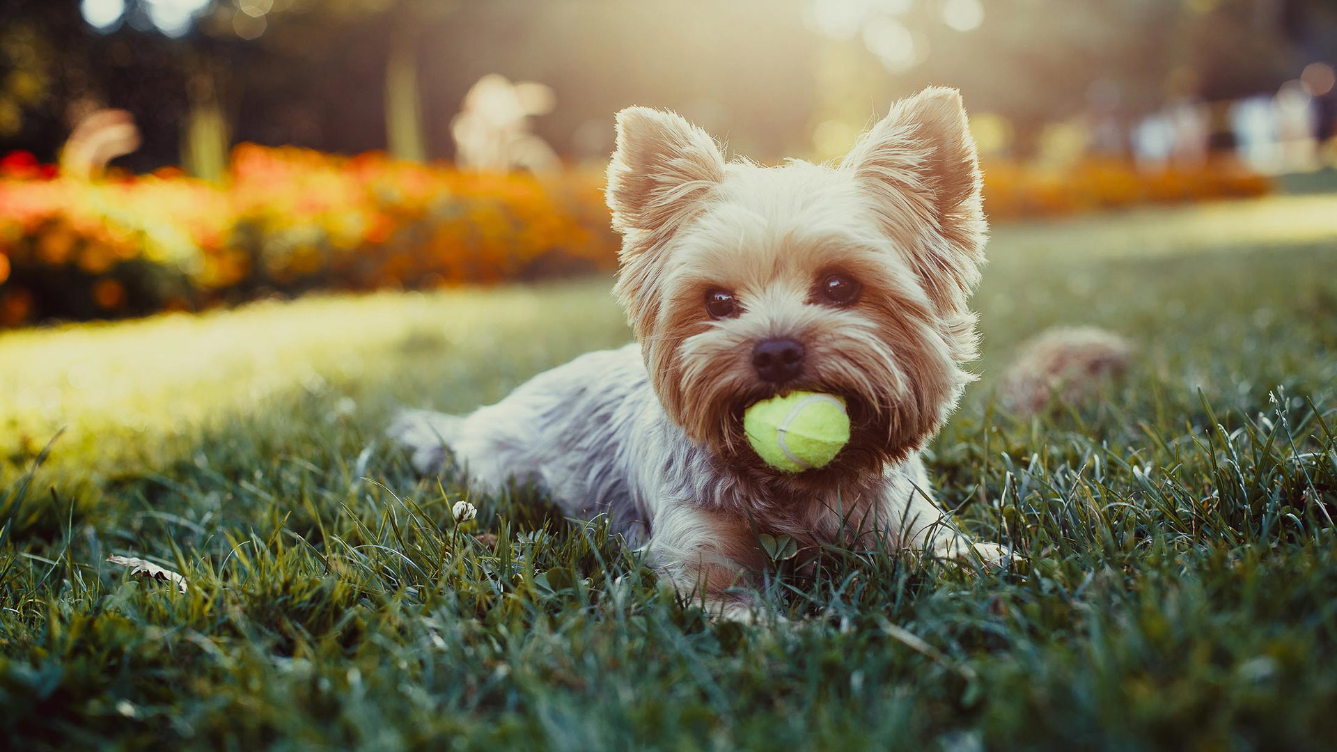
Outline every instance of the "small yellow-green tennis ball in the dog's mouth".
{"label": "small yellow-green tennis ball in the dog's mouth", "polygon": [[789,392],[749,407],[743,432],[766,464],[798,472],[825,467],[849,443],[849,415],[842,397]]}

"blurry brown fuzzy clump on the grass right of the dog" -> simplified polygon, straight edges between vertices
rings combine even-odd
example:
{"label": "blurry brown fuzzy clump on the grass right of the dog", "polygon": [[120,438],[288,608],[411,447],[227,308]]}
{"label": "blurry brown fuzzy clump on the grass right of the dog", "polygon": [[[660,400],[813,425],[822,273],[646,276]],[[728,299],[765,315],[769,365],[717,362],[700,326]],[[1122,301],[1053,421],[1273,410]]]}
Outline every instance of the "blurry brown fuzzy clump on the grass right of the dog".
{"label": "blurry brown fuzzy clump on the grass right of the dog", "polygon": [[1058,396],[1082,403],[1128,369],[1134,345],[1095,326],[1055,326],[1021,343],[1003,373],[999,403],[1015,415],[1042,412]]}

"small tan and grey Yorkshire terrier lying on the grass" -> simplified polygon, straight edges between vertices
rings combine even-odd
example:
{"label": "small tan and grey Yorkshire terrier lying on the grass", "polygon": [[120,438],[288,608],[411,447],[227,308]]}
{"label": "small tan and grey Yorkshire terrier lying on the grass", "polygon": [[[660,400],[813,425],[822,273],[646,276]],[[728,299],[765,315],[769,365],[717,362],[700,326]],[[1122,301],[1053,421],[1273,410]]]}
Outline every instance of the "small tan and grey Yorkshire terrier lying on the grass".
{"label": "small tan and grey Yorkshire terrier lying on the grass", "polygon": [[[980,190],[951,88],[896,103],[830,165],[727,161],[677,114],[623,110],[607,202],[635,343],[467,416],[402,412],[389,434],[421,472],[453,460],[477,491],[533,482],[567,514],[608,515],[727,618],[755,613],[759,533],[999,563],[1004,547],[948,523],[920,458],[973,380]],[[852,435],[789,474],[750,448],[742,415],[794,389],[842,396]]]}

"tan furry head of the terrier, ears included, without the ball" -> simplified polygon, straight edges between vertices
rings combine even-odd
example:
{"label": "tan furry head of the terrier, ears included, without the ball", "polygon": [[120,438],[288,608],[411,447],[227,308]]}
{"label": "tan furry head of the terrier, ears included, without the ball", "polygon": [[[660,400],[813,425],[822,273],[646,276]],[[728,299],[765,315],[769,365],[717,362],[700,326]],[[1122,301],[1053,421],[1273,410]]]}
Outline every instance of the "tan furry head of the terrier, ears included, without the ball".
{"label": "tan furry head of the terrier, ears included, without the ball", "polygon": [[931,438],[971,379],[985,222],[955,90],[897,103],[834,166],[726,162],[681,116],[631,107],[607,197],[655,392],[726,459],[759,466],[747,405],[808,389],[850,405],[832,467],[869,471]]}

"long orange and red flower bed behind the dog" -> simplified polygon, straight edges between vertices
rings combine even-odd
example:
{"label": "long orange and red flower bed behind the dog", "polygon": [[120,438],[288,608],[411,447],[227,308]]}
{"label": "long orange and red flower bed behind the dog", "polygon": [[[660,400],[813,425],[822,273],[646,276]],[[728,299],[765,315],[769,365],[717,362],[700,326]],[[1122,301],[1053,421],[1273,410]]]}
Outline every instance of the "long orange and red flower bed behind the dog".
{"label": "long orange and red flower bed behind the dog", "polygon": [[[987,163],[993,219],[1258,195],[1226,163]],[[461,173],[242,145],[225,186],[166,169],[96,182],[0,161],[0,326],[198,310],[310,289],[420,289],[616,266],[603,177]]]}

